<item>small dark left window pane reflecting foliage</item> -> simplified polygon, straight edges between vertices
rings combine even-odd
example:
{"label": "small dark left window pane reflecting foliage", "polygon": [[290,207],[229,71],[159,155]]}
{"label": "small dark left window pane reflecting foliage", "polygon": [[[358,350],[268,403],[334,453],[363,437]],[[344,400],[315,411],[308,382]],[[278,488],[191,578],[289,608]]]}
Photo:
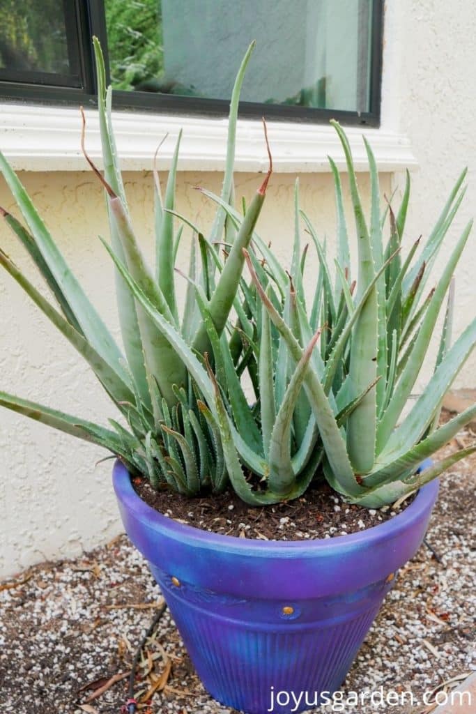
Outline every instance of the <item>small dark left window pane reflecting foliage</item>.
{"label": "small dark left window pane reflecting foliage", "polygon": [[71,74],[61,0],[0,0],[0,77]]}

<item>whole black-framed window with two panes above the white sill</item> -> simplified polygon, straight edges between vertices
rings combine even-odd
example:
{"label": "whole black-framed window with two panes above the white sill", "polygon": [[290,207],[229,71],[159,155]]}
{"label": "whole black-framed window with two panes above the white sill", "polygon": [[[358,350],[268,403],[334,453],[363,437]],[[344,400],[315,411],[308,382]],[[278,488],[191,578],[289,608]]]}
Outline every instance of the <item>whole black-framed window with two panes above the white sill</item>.
{"label": "whole black-framed window with two panes above the white sill", "polygon": [[381,0],[0,0],[0,96],[94,104],[91,37],[116,107],[378,125]]}

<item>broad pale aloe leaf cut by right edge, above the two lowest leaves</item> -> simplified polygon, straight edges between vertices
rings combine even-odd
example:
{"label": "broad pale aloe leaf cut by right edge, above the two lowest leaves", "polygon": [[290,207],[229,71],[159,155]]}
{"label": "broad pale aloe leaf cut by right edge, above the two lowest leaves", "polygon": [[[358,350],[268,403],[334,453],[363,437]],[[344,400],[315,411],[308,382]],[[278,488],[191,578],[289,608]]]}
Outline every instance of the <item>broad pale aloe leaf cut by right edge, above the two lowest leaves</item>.
{"label": "broad pale aloe leaf cut by right edge, above the two lowest leaves", "polygon": [[[462,368],[476,344],[476,319],[462,332],[447,351],[427,387],[400,426],[395,428],[383,446],[379,462],[398,458],[417,441],[432,420],[440,401]],[[398,388],[398,383],[396,389]]]}

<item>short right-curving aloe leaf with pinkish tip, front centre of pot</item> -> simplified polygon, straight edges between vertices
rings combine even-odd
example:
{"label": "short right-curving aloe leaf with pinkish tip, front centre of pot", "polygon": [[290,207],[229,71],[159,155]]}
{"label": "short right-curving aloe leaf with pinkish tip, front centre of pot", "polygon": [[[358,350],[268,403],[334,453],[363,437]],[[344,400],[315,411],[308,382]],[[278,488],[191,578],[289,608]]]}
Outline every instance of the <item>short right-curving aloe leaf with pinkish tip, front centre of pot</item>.
{"label": "short right-curving aloe leaf with pinkish tip, front centre of pot", "polygon": [[268,488],[270,491],[281,494],[283,497],[290,493],[295,481],[291,460],[291,426],[293,424],[293,413],[300,395],[301,387],[303,386],[305,373],[308,370],[313,348],[319,336],[320,330],[315,333],[295,367],[293,376],[286,389],[283,403],[276,415],[271,433]]}

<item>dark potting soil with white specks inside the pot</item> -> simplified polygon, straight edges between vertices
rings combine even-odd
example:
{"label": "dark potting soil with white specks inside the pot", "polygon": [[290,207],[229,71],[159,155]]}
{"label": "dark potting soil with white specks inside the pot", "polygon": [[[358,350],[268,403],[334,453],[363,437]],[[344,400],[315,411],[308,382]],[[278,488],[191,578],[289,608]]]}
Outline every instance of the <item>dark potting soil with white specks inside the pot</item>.
{"label": "dark potting soil with white specks inside the pot", "polygon": [[321,482],[293,501],[252,507],[234,491],[187,498],[168,490],[156,491],[145,478],[133,478],[133,487],[149,506],[180,523],[258,540],[306,540],[358,533],[393,518],[415,498],[410,496],[398,508],[363,508],[345,503],[327,483]]}

